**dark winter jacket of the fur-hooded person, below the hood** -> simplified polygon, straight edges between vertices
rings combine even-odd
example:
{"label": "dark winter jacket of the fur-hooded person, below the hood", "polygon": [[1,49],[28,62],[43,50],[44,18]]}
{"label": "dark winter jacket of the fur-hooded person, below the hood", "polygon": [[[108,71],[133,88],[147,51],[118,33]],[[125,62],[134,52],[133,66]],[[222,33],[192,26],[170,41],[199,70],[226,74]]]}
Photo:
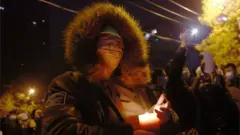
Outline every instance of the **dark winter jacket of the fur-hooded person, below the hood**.
{"label": "dark winter jacket of the fur-hooded person, below the hood", "polygon": [[49,86],[42,118],[44,135],[131,135],[113,102],[100,86],[66,72]]}

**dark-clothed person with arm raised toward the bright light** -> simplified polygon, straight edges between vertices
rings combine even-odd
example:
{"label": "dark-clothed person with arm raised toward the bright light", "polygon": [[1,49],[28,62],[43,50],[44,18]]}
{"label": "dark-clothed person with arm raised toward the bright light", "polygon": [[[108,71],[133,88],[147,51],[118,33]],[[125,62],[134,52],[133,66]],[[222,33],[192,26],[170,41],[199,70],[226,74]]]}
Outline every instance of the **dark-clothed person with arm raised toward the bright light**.
{"label": "dark-clothed person with arm raised toward the bright light", "polygon": [[181,131],[187,131],[192,128],[197,128],[197,110],[198,103],[196,97],[191,90],[191,87],[186,83],[190,77],[188,74],[183,74],[184,63],[186,61],[186,44],[189,42],[186,39],[186,33],[181,35],[182,43],[176,52],[175,57],[168,64],[166,72],[168,75],[168,83],[166,86],[166,94],[171,102],[173,110],[179,116]]}

